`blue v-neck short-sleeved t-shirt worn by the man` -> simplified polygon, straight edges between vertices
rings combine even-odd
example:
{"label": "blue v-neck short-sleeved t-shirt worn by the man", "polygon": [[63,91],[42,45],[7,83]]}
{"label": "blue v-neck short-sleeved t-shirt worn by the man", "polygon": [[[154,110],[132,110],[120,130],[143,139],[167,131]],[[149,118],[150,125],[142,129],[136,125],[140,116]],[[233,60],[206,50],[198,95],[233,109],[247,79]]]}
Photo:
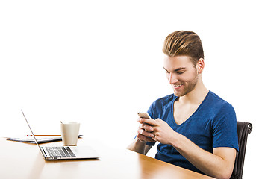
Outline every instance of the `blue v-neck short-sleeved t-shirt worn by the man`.
{"label": "blue v-neck short-sleeved t-shirt worn by the man", "polygon": [[[238,151],[237,119],[234,108],[218,95],[209,91],[198,109],[181,125],[177,125],[173,117],[173,104],[178,97],[167,95],[157,99],[149,107],[152,119],[162,119],[179,134],[182,134],[205,151],[213,153],[213,148],[228,147]],[[154,145],[147,142],[147,145]],[[155,158],[200,172],[172,145],[159,143]]]}

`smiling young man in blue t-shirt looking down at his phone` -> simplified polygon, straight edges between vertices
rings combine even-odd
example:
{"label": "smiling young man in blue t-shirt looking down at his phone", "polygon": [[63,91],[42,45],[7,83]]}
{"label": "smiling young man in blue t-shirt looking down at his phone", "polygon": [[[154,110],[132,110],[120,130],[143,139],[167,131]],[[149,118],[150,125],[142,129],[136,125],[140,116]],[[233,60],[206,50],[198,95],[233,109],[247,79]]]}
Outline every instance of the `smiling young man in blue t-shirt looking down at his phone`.
{"label": "smiling young man in blue t-shirt looking down at his phone", "polygon": [[214,178],[230,178],[238,151],[237,119],[228,102],[207,90],[202,42],[192,31],[175,31],[163,45],[163,69],[174,94],[149,107],[128,149]]}

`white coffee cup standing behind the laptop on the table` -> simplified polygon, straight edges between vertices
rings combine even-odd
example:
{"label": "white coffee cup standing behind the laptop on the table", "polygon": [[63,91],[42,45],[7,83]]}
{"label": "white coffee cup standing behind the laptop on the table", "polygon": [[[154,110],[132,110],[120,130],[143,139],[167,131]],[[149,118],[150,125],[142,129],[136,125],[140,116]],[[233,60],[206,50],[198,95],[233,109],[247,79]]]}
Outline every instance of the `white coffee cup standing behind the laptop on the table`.
{"label": "white coffee cup standing behind the laptop on the table", "polygon": [[77,145],[80,123],[62,122],[60,124],[63,145]]}

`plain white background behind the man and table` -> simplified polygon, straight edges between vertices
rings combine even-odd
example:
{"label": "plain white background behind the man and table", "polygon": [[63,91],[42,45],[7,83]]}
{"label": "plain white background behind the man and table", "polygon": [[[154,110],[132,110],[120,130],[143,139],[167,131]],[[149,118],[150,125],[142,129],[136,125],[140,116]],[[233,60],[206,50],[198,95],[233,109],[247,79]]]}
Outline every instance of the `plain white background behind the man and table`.
{"label": "plain white background behind the man and table", "polygon": [[[126,148],[137,111],[172,93],[161,48],[172,31],[195,31],[205,86],[255,123],[253,1],[0,1],[0,136],[81,134]],[[256,131],[243,178],[254,174]],[[149,154],[154,156],[154,150]]]}

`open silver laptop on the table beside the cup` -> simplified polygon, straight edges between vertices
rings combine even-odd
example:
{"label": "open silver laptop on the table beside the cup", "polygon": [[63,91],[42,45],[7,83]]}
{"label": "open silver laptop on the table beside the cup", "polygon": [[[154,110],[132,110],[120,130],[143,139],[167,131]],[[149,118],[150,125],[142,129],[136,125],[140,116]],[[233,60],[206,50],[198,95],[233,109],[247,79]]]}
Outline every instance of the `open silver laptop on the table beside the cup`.
{"label": "open silver laptop on the table beside the cup", "polygon": [[[22,114],[28,124],[28,120],[25,117],[25,114],[22,111]],[[28,128],[31,130],[32,135],[34,133],[28,124]],[[40,149],[41,154],[45,160],[66,160],[66,159],[93,159],[99,158],[99,154],[91,148],[90,146],[43,146],[41,147],[36,137],[34,136],[34,141],[37,143],[38,148]]]}

